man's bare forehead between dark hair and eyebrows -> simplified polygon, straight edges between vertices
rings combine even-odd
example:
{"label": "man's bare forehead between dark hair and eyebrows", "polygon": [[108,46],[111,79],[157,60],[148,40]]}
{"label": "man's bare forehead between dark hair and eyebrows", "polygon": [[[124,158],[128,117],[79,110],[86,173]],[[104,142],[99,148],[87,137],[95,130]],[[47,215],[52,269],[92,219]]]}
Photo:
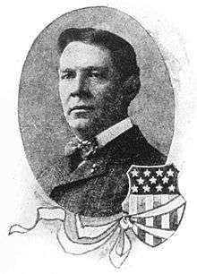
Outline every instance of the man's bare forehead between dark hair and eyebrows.
{"label": "man's bare forehead between dark hair and eyebrows", "polygon": [[60,68],[76,68],[89,66],[111,66],[109,50],[104,47],[74,41],[64,48],[60,57]]}

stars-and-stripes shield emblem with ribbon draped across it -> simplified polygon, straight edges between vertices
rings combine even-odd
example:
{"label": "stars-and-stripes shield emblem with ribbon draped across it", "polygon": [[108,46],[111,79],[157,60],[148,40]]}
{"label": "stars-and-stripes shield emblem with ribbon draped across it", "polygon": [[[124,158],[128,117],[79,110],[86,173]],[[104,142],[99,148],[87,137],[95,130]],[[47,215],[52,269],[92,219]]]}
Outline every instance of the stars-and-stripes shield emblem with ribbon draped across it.
{"label": "stars-and-stripes shield emblem with ribbon draped across it", "polygon": [[143,243],[157,246],[167,240],[162,235],[170,236],[176,231],[184,215],[185,201],[177,185],[178,170],[173,164],[133,165],[127,176],[130,187],[123,210],[140,224],[133,229],[134,234]]}

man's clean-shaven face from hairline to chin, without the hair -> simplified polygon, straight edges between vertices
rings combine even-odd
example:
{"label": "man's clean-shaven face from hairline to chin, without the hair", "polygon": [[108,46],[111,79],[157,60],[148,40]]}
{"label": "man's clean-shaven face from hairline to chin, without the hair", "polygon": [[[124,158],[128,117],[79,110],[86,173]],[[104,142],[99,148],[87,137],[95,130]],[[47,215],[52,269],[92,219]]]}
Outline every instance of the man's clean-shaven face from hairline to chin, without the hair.
{"label": "man's clean-shaven face from hairline to chin, without the hair", "polygon": [[123,103],[119,77],[106,48],[78,41],[64,48],[59,91],[73,130],[99,133],[116,123]]}

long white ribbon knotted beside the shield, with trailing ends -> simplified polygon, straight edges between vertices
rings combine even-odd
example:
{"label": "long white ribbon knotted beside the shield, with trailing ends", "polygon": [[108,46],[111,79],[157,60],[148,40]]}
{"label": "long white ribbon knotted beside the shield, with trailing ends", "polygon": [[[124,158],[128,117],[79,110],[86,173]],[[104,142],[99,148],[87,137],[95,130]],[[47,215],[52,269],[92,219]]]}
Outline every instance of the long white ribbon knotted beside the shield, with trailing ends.
{"label": "long white ribbon knotted beside the shield, with trailing ends", "polygon": [[138,223],[138,218],[150,218],[167,214],[184,206],[184,204],[184,198],[180,195],[154,210],[147,210],[135,215],[121,214],[109,221],[106,221],[107,218],[105,218],[105,221],[101,221],[99,224],[95,222],[94,224],[87,223],[85,225],[79,215],[64,210],[64,208],[42,207],[37,210],[37,218],[32,227],[26,228],[21,227],[21,225],[13,225],[10,227],[9,235],[27,233],[36,227],[42,219],[47,221],[59,220],[63,225],[57,231],[56,238],[65,253],[77,255],[89,253],[114,237],[112,241],[114,244],[109,252],[109,260],[116,268],[120,268],[132,249],[131,238],[126,233],[128,229],[132,229],[133,233],[138,236],[137,230],[141,228],[150,235],[159,236],[164,240],[175,232],[175,230],[170,229],[143,226]]}

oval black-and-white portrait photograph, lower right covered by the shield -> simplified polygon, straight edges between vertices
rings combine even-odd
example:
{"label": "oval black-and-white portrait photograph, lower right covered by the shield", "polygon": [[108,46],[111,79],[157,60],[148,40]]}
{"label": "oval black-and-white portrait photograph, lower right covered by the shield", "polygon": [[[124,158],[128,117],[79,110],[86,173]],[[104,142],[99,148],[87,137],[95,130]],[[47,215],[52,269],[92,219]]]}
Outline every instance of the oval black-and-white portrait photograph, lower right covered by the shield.
{"label": "oval black-and-white portrait photograph, lower right covered by the shield", "polygon": [[31,47],[20,82],[22,141],[39,184],[65,209],[90,217],[120,213],[126,172],[166,164],[174,120],[166,64],[129,15],[76,10]]}

